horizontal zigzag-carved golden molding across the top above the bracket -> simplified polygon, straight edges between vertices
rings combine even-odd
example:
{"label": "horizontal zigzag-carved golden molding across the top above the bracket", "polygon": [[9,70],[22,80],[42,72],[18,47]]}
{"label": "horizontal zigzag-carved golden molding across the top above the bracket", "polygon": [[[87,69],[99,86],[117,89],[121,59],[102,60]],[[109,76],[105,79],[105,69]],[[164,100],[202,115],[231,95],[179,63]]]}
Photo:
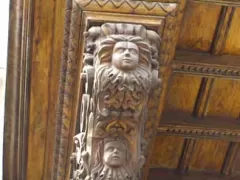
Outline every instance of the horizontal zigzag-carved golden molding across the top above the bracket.
{"label": "horizontal zigzag-carved golden molding across the top above the bracket", "polygon": [[84,11],[175,16],[179,0],[171,3],[133,0],[76,0],[76,2]]}

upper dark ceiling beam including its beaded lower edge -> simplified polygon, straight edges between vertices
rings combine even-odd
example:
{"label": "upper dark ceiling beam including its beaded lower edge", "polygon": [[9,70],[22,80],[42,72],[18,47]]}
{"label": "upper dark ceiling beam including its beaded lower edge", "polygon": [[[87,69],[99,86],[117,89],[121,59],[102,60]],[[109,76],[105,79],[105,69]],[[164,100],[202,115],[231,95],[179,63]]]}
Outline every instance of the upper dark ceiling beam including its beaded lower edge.
{"label": "upper dark ceiling beam including its beaded lower edge", "polygon": [[239,79],[239,59],[239,56],[214,56],[208,53],[178,50],[172,69],[174,72],[184,74]]}

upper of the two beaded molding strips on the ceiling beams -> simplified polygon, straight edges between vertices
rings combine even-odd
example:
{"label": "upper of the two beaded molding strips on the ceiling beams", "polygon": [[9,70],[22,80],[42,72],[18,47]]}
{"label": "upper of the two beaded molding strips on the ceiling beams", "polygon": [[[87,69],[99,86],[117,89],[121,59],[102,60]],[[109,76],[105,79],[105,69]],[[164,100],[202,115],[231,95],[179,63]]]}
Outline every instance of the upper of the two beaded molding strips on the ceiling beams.
{"label": "upper of the two beaded molding strips on the ceiling beams", "polygon": [[240,78],[240,68],[226,67],[202,63],[177,62],[174,61],[172,65],[174,72],[186,73],[202,76],[224,77],[224,78]]}

